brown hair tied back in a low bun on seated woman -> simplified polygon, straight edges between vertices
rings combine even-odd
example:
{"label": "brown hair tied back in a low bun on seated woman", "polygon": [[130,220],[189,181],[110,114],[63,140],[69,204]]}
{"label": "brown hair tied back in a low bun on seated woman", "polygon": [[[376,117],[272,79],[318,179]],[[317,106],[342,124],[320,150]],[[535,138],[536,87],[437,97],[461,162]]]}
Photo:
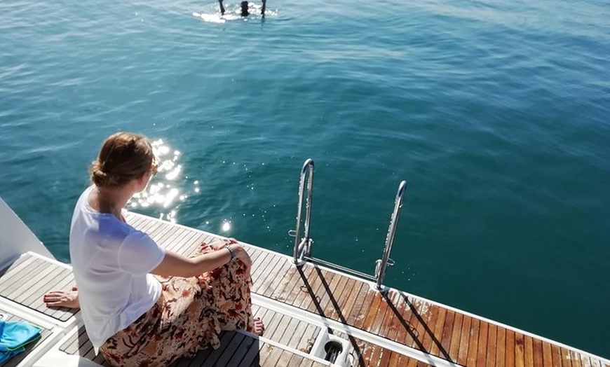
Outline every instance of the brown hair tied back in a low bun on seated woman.
{"label": "brown hair tied back in a low bun on seated woman", "polygon": [[91,162],[91,182],[98,187],[119,187],[148,172],[154,153],[148,139],[140,134],[117,132],[104,140],[100,155]]}

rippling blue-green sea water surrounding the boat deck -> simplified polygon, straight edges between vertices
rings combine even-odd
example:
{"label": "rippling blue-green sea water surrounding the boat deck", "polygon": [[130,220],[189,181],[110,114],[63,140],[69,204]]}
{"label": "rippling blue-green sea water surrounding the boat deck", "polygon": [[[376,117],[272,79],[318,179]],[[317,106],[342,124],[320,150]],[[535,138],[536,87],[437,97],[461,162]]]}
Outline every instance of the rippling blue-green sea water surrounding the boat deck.
{"label": "rippling blue-green sea water surrounding the boat deck", "polygon": [[112,132],[168,150],[135,211],[285,254],[313,158],[314,255],[372,272],[406,179],[388,284],[610,357],[606,2],[216,9],[0,2],[0,196],[58,258]]}

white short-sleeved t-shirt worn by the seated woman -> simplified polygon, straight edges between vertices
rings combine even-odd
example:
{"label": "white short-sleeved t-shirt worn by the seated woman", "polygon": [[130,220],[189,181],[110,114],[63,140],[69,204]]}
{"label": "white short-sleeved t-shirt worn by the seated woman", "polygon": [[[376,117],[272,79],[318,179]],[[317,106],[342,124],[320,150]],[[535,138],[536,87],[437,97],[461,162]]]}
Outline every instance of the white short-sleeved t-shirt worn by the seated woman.
{"label": "white short-sleeved t-shirt worn by the seated woman", "polygon": [[104,342],[150,310],[161,283],[149,272],[165,250],[146,233],[88,204],[87,188],[76,202],[70,227],[70,258],[81,314],[97,354]]}

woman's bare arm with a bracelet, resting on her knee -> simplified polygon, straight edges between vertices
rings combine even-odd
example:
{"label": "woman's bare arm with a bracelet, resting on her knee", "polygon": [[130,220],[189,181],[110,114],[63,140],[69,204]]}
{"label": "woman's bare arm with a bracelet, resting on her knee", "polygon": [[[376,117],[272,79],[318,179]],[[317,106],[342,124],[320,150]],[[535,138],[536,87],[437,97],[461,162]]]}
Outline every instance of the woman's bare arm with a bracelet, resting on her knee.
{"label": "woman's bare arm with a bracelet, resting on her knee", "polygon": [[194,277],[204,272],[209,272],[231,261],[231,251],[227,249],[229,246],[234,252],[235,258],[242,261],[246,271],[250,272],[252,260],[248,252],[240,244],[230,244],[217,251],[208,252],[194,258],[186,258],[174,252],[166,251],[163,261],[151,273],[166,277]]}

